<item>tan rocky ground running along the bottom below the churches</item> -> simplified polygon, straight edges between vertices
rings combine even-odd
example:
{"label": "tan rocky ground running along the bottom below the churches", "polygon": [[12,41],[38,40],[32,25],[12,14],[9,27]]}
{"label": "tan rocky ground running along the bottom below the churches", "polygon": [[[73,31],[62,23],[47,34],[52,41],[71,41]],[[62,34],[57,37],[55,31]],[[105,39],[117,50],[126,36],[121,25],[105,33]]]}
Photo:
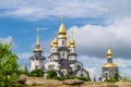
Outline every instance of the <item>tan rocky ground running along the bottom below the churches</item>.
{"label": "tan rocky ground running along the bottom below the churches", "polygon": [[45,79],[43,77],[27,77],[26,87],[131,87],[131,80],[118,82],[118,83],[93,83],[84,82],[81,85],[66,85],[61,80],[57,79]]}

